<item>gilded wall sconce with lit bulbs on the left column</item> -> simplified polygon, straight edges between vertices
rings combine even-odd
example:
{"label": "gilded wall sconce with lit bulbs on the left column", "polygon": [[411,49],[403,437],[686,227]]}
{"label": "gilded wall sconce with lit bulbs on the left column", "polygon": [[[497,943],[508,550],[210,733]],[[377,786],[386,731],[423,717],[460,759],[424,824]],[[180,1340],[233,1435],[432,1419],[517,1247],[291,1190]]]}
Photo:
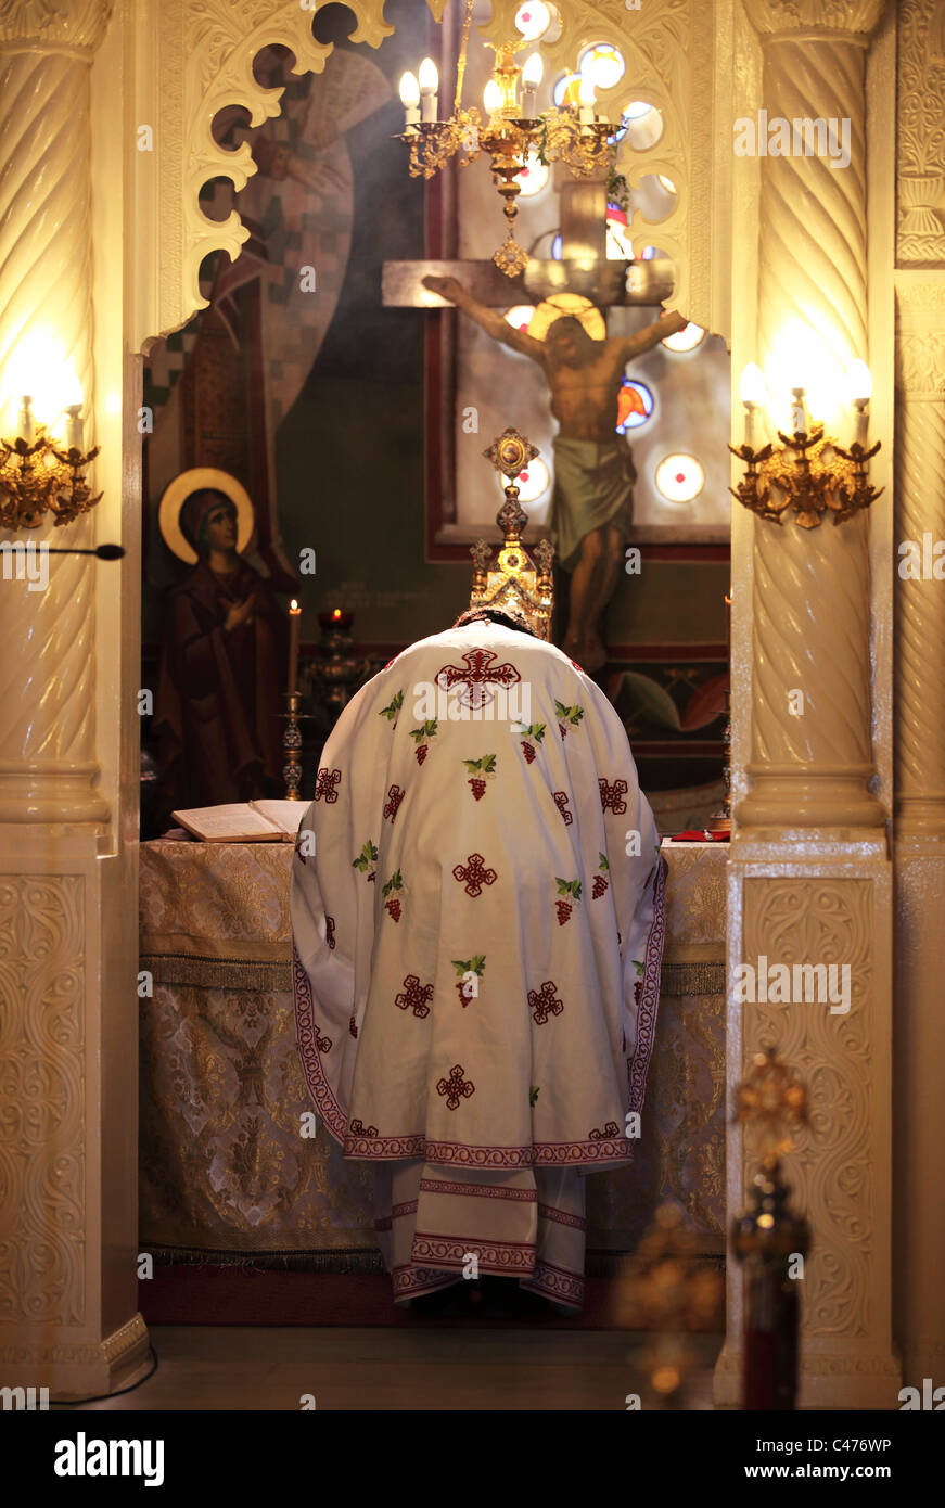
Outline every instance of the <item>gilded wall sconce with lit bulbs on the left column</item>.
{"label": "gilded wall sconce with lit bulbs on the left column", "polygon": [[29,395],[21,400],[17,439],[0,437],[0,528],[9,532],[38,529],[47,514],[57,526],[72,523],[102,498],[86,480],[99,446],[83,451],[81,404],[65,410],[65,448],[36,424],[32,404]]}

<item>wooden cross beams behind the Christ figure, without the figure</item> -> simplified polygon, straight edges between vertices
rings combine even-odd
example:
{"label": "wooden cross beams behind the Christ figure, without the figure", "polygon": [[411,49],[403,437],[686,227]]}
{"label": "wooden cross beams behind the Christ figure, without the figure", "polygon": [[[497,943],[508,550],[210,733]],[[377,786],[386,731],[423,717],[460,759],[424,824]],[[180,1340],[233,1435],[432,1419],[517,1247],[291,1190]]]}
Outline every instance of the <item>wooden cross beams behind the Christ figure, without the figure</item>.
{"label": "wooden cross beams behind the Christ figure, without the figure", "polygon": [[[448,299],[424,288],[422,279],[458,277],[479,303],[508,309],[540,303],[555,293],[576,293],[598,309],[615,305],[660,305],[672,293],[672,262],[612,261],[606,252],[607,182],[574,178],[558,164],[555,181],[561,204],[561,261],[531,258],[523,274],[506,277],[491,261],[384,262],[381,302],[387,308],[451,309]],[[628,274],[627,274],[627,270]]]}

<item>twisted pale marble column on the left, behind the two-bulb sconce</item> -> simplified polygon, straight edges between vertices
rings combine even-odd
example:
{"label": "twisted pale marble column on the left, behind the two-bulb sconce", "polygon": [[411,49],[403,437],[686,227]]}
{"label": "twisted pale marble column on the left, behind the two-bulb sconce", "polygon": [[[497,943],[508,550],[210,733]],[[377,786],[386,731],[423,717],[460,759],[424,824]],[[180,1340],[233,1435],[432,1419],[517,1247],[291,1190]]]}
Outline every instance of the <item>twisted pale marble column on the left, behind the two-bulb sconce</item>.
{"label": "twisted pale marble column on the left, behind the two-bulb sconce", "polygon": [[[23,342],[48,342],[81,383],[86,446],[93,442],[89,65],[109,14],[109,0],[0,8],[0,392],[15,386]],[[48,522],[3,538],[86,546],[93,522]],[[45,590],[6,581],[0,593],[0,822],[107,814],[95,789],[93,572],[87,556],[53,555]]]}

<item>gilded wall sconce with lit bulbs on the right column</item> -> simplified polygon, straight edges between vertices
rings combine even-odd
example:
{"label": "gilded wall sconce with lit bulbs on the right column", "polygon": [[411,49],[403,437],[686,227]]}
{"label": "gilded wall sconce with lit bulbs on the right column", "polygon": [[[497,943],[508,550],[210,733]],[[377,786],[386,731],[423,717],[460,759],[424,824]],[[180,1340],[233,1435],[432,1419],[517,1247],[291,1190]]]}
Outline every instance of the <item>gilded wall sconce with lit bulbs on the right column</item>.
{"label": "gilded wall sconce with lit bulbs on the right column", "polygon": [[745,440],[729,445],[732,455],[743,460],[748,470],[737,489],[729,492],[760,519],[782,523],[788,508],[802,529],[815,529],[824,514],[843,523],[876,502],[877,492],[867,477],[867,461],[880,448],[877,440],[867,449],[870,398],[873,379],[865,362],[856,360],[847,374],[850,404],[855,410],[853,443],[844,449],[824,434],[823,424],[811,424],[805,389],[791,389],[791,434],[778,430],[779,445],[769,442],[757,448],[755,419],[769,407],[764,377],[755,362],[742,372],[740,398],[745,407]]}

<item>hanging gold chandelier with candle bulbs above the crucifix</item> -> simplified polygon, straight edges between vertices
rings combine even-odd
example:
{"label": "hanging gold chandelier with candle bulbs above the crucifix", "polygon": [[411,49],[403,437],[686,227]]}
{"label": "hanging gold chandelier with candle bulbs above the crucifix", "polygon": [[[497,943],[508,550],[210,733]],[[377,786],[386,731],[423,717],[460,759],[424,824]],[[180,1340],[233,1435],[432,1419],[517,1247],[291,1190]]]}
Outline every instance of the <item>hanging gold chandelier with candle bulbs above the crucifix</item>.
{"label": "hanging gold chandelier with candle bulbs above the crucifix", "polygon": [[597,119],[589,80],[580,84],[577,106],[567,104],[564,109],[552,107],[537,113],[541,54],[532,53],[524,66],[515,62],[515,53],[529,45],[526,38],[487,44],[493,47],[496,62],[482,95],[485,118],[475,106],[464,109],[463,80],[473,0],[466,0],[452,115],[448,121],[437,119],[439,74],[433,59],[425,57],[416,75],[407,72],[401,78],[405,124],[398,140],[410,146],[411,178],[433,178],[457,154],[461,154],[461,167],[475,163],[481,151],[488,154],[506,222],[505,241],[493,253],[493,261],[506,277],[515,277],[528,265],[528,252],[517,243],[514,228],[521,192],[518,175],[529,158],[537,157],[543,164],[564,161],[573,173],[588,178],[610,164],[612,148],[607,137],[613,127]]}

